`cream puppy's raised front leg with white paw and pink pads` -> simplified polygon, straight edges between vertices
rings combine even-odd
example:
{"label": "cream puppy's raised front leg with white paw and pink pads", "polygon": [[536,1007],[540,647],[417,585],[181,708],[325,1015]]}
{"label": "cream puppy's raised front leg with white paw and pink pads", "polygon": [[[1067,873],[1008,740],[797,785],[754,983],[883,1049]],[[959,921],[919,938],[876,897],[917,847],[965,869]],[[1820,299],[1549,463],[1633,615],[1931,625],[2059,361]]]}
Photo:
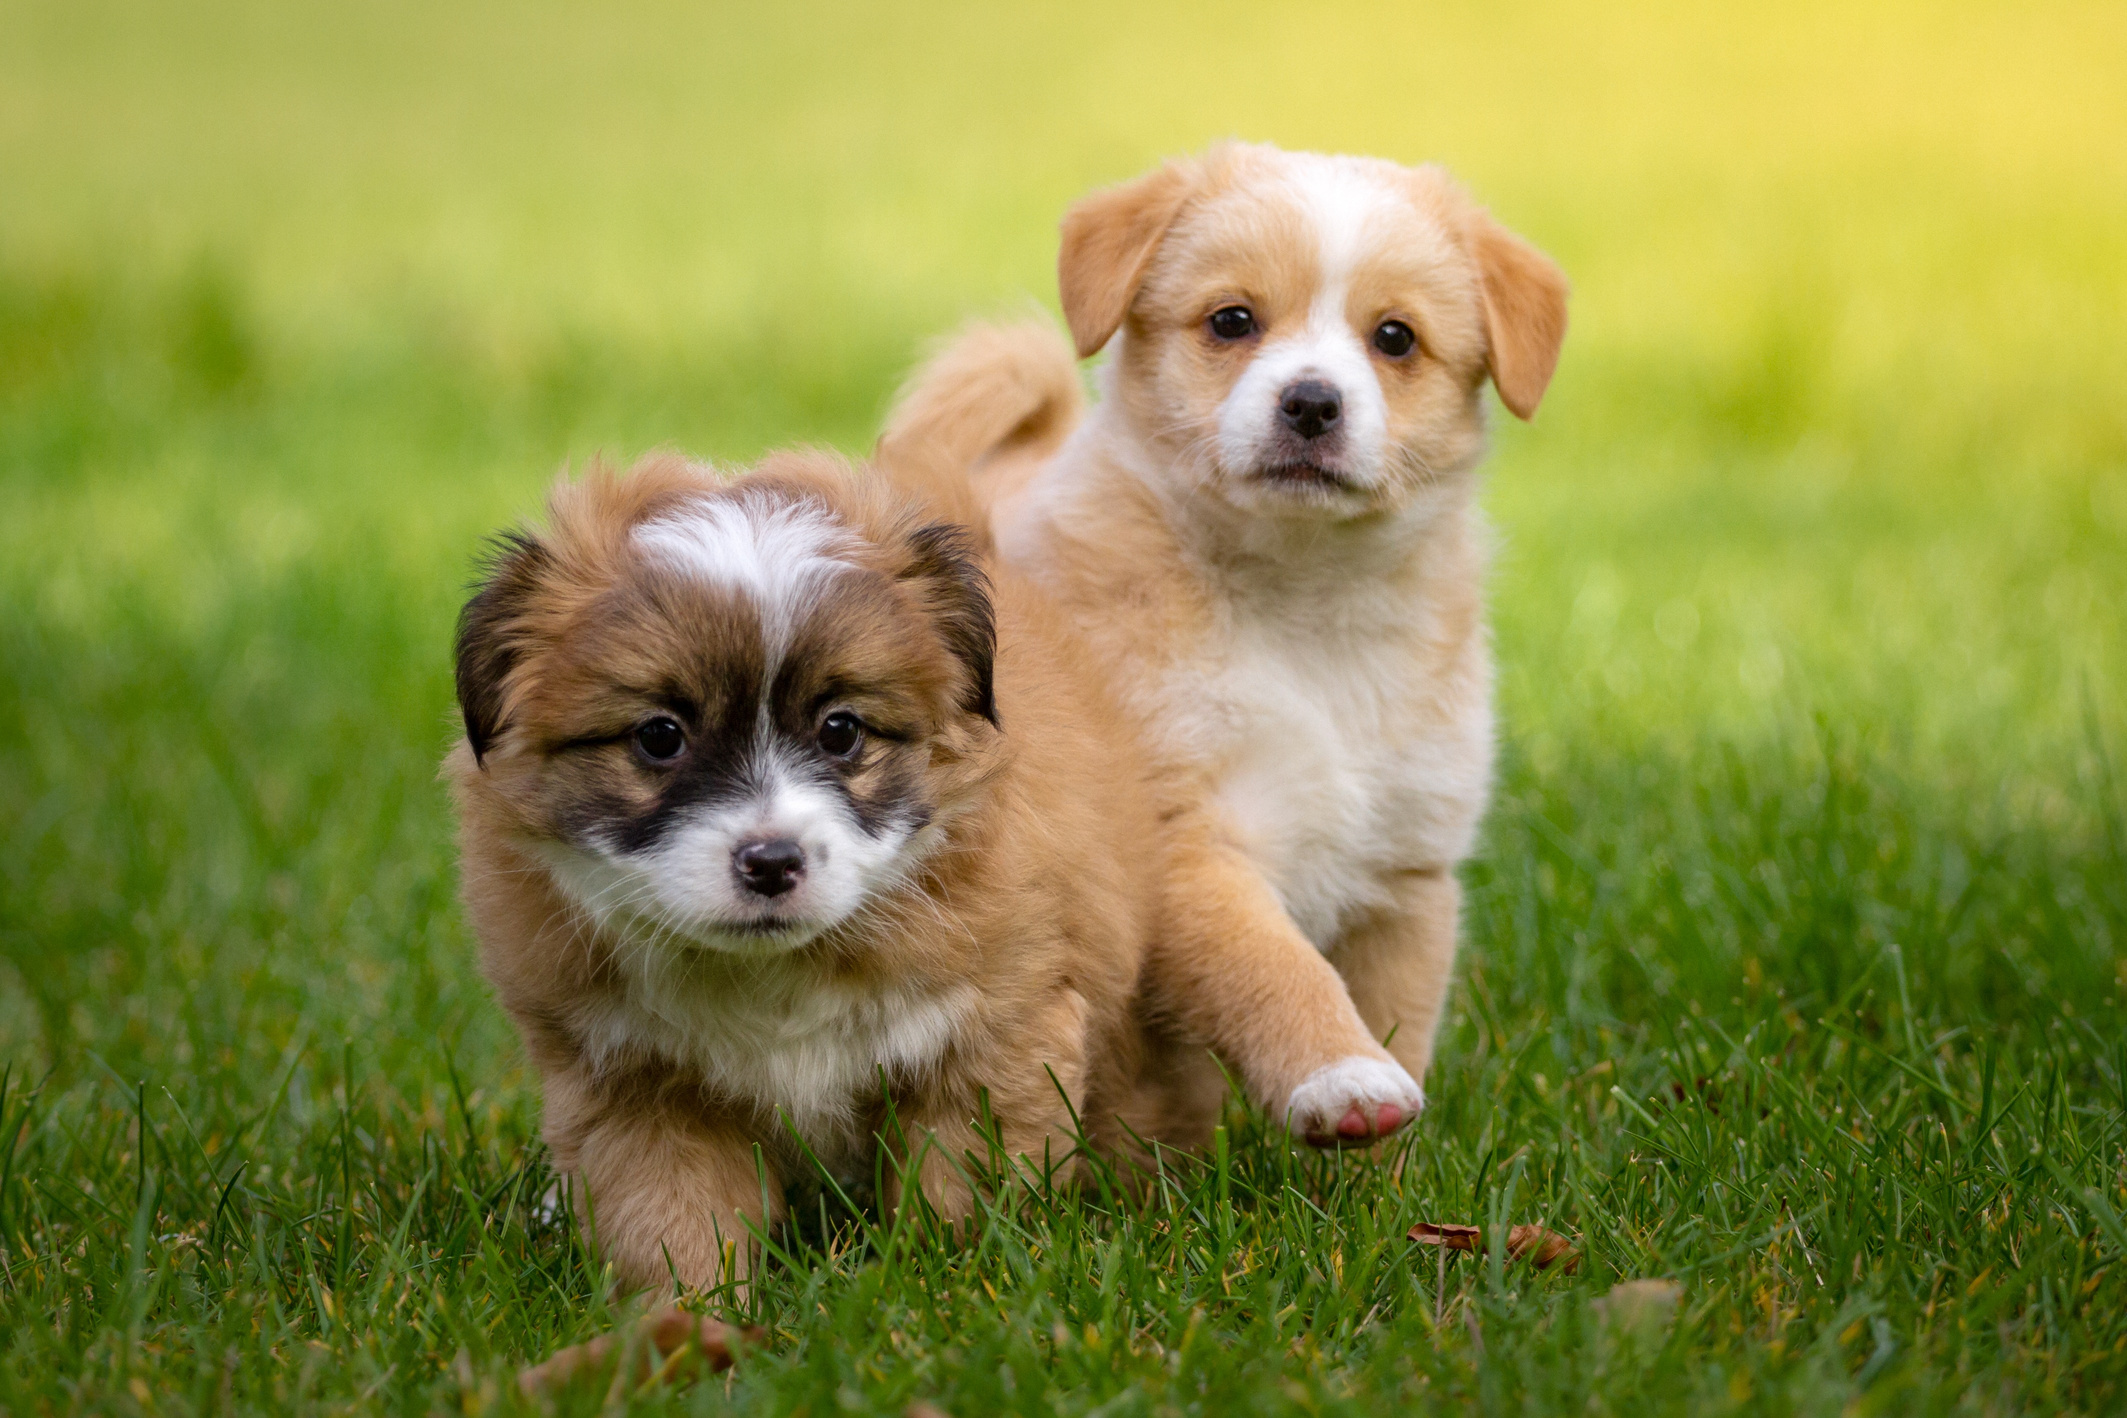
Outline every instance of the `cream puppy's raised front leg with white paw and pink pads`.
{"label": "cream puppy's raised front leg with white paw and pink pads", "polygon": [[1238,848],[1178,833],[1166,921],[1146,959],[1155,1001],[1240,1071],[1249,1095],[1314,1146],[1372,1142],[1425,1095],[1368,1033],[1344,980]]}

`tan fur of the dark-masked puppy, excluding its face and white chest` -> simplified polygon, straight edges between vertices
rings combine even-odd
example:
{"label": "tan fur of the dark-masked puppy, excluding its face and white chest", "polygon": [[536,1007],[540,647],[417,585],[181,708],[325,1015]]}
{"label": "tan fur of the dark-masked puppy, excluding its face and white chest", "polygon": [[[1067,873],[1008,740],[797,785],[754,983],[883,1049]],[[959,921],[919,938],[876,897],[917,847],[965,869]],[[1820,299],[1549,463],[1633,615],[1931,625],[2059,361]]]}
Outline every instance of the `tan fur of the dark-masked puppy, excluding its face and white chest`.
{"label": "tan fur of the dark-masked puppy, excluding its face and white chest", "polygon": [[[715,1001],[734,1018],[755,999],[768,1010],[823,991],[968,999],[934,1061],[887,1069],[910,1150],[927,1148],[908,1161],[949,1218],[970,1205],[953,1163],[985,1152],[985,1099],[1008,1157],[1070,1176],[1072,1110],[1095,1146],[1125,1142],[1119,1118],[1193,1146],[1219,1097],[1208,1061],[1191,1063],[1140,1018],[1140,959],[1163,906],[1155,806],[1129,723],[1040,593],[993,576],[1000,731],[959,704],[966,674],[921,631],[940,612],[910,572],[908,538],[932,519],[883,478],[800,455],[730,483],[676,457],[593,474],[555,489],[534,565],[498,568],[498,578],[525,580],[498,631],[515,651],[502,727],[479,761],[462,742],[445,767],[481,963],[542,1076],[555,1167],[587,1188],[598,1244],[630,1286],[742,1280],[749,1225],[778,1218],[783,1182],[804,1167],[776,1118],[781,1099],[734,1095],[657,1037],[615,1044],[600,1033],[627,991],[623,952],[634,946],[579,910],[551,865],[585,774],[608,793],[632,791],[636,774],[621,757],[583,765],[566,744],[625,725],[638,712],[630,685],[685,678],[730,621],[670,587],[659,617],[615,621],[644,576],[630,531],[679,502],[740,493],[817,504],[855,534],[851,555],[876,572],[859,591],[876,597],[881,629],[859,625],[859,642],[840,653],[917,725],[944,840],[885,899],[787,955],[681,950],[674,997]],[[1157,1074],[1144,1078],[1149,1067]],[[847,1099],[844,1122],[806,1142],[851,1165],[883,1125],[872,1084]]]}

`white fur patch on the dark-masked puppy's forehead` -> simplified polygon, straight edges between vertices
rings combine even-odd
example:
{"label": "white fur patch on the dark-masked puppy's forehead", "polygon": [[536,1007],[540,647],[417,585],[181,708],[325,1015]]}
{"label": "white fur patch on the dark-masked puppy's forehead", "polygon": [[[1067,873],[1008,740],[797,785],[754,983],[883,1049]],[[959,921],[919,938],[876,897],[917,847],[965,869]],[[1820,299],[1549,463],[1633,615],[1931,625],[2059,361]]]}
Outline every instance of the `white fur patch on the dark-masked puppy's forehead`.
{"label": "white fur patch on the dark-masked puppy's forehead", "polygon": [[700,497],[636,527],[636,544],[659,565],[751,597],[772,663],[821,583],[849,568],[855,538],[815,502]]}

